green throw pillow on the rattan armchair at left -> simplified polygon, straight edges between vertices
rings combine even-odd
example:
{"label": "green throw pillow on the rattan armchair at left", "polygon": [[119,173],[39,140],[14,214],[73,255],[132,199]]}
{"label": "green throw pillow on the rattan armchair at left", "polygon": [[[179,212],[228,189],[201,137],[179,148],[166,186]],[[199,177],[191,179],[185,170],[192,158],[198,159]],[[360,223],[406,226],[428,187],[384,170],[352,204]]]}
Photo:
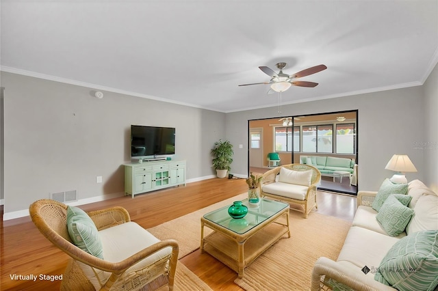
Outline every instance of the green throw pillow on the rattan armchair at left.
{"label": "green throw pillow on the rattan armchair at left", "polygon": [[77,247],[103,259],[101,238],[96,225],[81,208],[68,206],[67,229],[71,240]]}

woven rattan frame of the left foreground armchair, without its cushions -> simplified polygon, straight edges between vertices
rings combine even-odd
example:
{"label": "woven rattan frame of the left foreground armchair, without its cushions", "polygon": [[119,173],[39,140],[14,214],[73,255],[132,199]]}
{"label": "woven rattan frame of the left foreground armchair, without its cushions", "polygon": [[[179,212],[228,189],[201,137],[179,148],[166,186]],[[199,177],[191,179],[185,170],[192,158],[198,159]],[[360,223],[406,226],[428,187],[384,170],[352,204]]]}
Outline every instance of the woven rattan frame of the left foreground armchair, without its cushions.
{"label": "woven rattan frame of the left foreground armchair, without its cushions", "polygon": [[[108,272],[109,278],[101,283],[100,290],[155,290],[165,285],[168,285],[169,290],[173,290],[179,252],[176,240],[164,240],[153,245],[145,245],[144,249],[138,250],[120,262],[101,260],[72,243],[66,224],[67,207],[65,204],[51,199],[38,200],[29,207],[31,219],[38,230],[53,245],[71,257],[62,278],[61,290],[96,289],[81,266],[92,268],[94,272]],[[136,223],[130,222],[129,213],[122,207],[92,211],[88,212],[88,215],[99,233],[101,230],[110,230],[110,227],[123,223],[136,225],[140,232],[144,230]],[[151,236],[146,230],[144,232]],[[123,237],[126,241],[136,236],[138,236],[138,232],[132,235],[126,233]],[[131,242],[127,241],[127,243]],[[144,262],[145,258],[147,260],[151,255],[163,249],[166,249],[167,253],[164,258],[155,260],[151,264],[148,262],[146,266],[143,264],[140,269],[137,268],[142,261]],[[134,265],[136,266],[131,268]]]}

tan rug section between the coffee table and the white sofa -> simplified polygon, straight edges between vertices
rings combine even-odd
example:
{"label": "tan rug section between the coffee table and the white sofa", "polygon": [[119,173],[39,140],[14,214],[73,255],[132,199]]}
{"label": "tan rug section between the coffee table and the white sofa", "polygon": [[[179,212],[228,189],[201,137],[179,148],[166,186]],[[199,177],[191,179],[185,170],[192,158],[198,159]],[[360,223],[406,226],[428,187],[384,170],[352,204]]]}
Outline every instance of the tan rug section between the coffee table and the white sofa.
{"label": "tan rug section between the coffee table and the white sofa", "polygon": [[320,257],[336,260],[351,223],[318,212],[304,219],[291,211],[290,238],[281,238],[245,268],[235,283],[252,290],[309,290],[311,271]]}

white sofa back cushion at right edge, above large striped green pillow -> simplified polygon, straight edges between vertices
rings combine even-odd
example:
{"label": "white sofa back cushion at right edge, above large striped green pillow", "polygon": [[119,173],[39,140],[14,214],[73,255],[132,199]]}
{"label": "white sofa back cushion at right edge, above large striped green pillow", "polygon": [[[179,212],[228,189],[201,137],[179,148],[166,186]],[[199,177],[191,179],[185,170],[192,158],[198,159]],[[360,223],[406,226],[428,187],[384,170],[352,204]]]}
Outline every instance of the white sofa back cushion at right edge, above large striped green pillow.
{"label": "white sofa back cushion at right edge, above large striped green pillow", "polygon": [[413,217],[406,227],[407,234],[422,230],[438,230],[438,196],[422,195],[413,210]]}

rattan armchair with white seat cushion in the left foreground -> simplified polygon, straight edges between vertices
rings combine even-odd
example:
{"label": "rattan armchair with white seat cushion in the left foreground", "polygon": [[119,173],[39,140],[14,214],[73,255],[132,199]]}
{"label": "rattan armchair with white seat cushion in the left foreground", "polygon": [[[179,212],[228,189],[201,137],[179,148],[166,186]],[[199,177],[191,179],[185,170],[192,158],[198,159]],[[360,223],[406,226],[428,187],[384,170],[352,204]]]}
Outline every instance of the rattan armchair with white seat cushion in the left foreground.
{"label": "rattan armchair with white seat cushion in the left foreground", "polygon": [[38,230],[71,257],[61,290],[155,290],[166,285],[173,290],[179,252],[176,240],[158,240],[132,222],[122,207],[88,213],[75,208],[76,213],[88,214],[96,227],[97,236],[92,239],[100,238],[103,249],[103,259],[97,258],[70,238],[67,221],[73,208],[68,207],[51,199],[29,207]]}

